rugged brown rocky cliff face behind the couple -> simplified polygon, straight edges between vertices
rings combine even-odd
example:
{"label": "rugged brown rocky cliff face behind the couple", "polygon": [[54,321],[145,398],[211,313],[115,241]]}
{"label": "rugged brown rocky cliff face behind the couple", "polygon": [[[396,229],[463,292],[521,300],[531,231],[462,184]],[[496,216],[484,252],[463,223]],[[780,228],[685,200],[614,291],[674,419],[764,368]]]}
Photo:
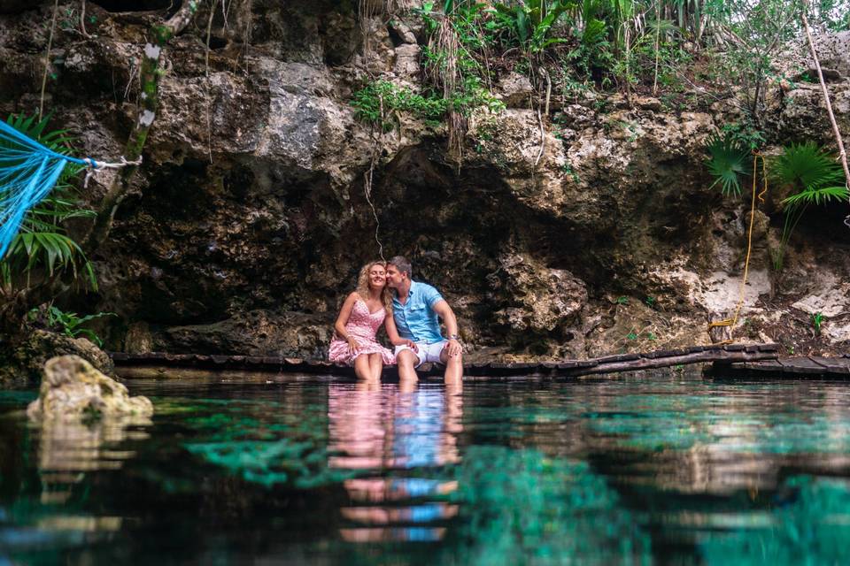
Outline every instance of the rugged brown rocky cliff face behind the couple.
{"label": "rugged brown rocky cliff face behind the couple", "polygon": [[[81,154],[117,157],[126,140],[144,34],[166,8],[136,4],[153,11],[89,0],[85,37],[78,4],[60,2],[69,15],[46,105]],[[104,328],[110,348],[322,356],[338,304],[381,245],[444,292],[479,356],[706,342],[711,313],[734,310],[748,203],[724,200],[703,164],[707,135],[730,119],[722,103],[553,96],[540,118],[528,80],[505,72],[494,88],[507,108],[471,121],[459,164],[444,126],[398,115],[376,131],[348,103],[370,78],[421,85],[415,18],[359,19],[329,1],[245,5],[213,19],[208,66],[203,12],[166,51],[145,162],[95,258],[101,289],[73,299],[120,315]],[[32,112],[51,4],[10,11],[0,15],[0,111]],[[830,41],[823,57],[848,133],[847,40]],[[769,99],[772,143],[830,141],[817,85],[777,84]],[[96,202],[109,180],[84,196]],[[778,277],[769,249],[780,198],[758,213],[735,333],[846,348],[846,207],[804,219]],[[821,336],[808,323],[815,311],[827,316]]]}

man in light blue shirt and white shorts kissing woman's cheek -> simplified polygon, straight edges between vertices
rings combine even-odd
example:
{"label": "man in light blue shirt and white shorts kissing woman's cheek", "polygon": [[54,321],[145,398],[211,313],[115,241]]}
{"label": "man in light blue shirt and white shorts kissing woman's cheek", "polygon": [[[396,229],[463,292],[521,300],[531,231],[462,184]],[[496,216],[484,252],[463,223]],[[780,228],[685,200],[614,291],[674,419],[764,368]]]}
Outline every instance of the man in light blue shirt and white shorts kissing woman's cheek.
{"label": "man in light blue shirt and white shorts kissing woman's cheek", "polygon": [[[392,297],[392,317],[398,335],[408,340],[396,346],[398,379],[402,383],[416,381],[416,370],[422,363],[445,364],[444,381],[459,385],[463,377],[463,355],[458,340],[458,319],[449,303],[427,283],[410,279],[410,262],[395,256],[387,263],[387,286],[395,290]],[[448,336],[440,333],[443,319]]]}

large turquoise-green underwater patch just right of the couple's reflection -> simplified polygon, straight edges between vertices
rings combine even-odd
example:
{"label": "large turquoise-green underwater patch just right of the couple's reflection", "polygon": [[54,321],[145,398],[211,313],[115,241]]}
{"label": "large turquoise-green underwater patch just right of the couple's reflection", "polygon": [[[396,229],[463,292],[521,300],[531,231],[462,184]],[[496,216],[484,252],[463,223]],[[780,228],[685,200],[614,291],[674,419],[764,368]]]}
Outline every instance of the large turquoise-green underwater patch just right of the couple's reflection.
{"label": "large turquoise-green underwater patch just right of the couple's reflection", "polygon": [[[537,450],[470,447],[452,501],[466,509],[451,562],[651,562],[651,539],[584,462]],[[454,549],[455,552],[458,549]]]}

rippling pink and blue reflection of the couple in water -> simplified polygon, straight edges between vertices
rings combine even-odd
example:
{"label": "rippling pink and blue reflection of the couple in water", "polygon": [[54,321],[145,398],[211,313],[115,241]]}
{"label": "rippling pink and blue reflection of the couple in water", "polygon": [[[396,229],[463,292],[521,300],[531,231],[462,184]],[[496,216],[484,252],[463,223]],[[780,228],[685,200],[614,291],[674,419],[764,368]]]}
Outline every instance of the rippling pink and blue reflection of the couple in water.
{"label": "rippling pink and blue reflection of the couple in water", "polygon": [[344,481],[343,539],[444,537],[444,522],[459,510],[444,496],[458,482],[435,469],[460,462],[462,419],[462,396],[440,386],[328,386],[328,466],[357,472]]}

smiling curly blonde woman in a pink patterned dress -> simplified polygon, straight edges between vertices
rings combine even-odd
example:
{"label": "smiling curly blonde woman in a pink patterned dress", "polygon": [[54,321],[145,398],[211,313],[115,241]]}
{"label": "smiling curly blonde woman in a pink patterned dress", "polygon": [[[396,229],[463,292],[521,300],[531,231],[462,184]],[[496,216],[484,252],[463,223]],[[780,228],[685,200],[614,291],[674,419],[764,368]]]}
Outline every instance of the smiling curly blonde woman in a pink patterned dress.
{"label": "smiling curly blonde woman in a pink patterned dress", "polygon": [[392,298],[387,288],[386,265],[375,261],[360,270],[357,290],[349,294],[339,311],[330,341],[331,362],[354,365],[358,379],[380,381],[384,363],[395,363],[389,349],[375,340],[375,333],[386,323],[393,345],[404,344],[392,319]]}

